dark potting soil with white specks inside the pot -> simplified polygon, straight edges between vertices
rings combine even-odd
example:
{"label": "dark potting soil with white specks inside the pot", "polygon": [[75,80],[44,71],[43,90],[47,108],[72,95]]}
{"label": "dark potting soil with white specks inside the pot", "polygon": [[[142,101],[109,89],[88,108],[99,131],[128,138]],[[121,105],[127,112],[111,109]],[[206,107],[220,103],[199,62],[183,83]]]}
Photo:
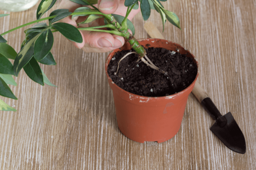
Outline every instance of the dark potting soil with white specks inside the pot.
{"label": "dark potting soil with white specks inside the pot", "polygon": [[114,54],[108,65],[108,74],[120,88],[132,94],[160,97],[180,92],[187,88],[196,78],[197,65],[186,55],[164,48],[146,49],[147,57],[168,75],[150,68],[141,60],[138,54],[130,54],[124,58],[115,75],[119,60],[132,50],[120,51]]}

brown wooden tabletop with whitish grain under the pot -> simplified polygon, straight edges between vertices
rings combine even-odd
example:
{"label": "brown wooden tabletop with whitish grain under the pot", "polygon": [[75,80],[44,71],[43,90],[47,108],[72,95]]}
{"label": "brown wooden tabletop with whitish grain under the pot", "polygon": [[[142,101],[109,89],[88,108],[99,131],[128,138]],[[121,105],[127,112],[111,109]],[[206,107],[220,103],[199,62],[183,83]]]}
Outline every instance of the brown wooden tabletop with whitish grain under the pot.
{"label": "brown wooden tabletop with whitish grain under the pot", "polygon": [[[60,0],[44,16],[57,9]],[[256,2],[172,0],[163,2],[182,31],[165,24],[163,36],[190,50],[199,62],[198,81],[222,114],[231,112],[246,140],[238,154],[209,130],[214,120],[189,95],[180,131],[172,139],[134,142],[118,129],[112,90],[104,70],[108,53],[85,53],[54,33],[56,66],[41,65],[58,87],[33,82],[22,70],[10,86],[18,100],[1,97],[17,112],[0,111],[1,170],[256,169]],[[35,20],[37,6],[0,18],[0,33]],[[139,13],[136,38],[149,37]],[[162,30],[156,11],[148,21]],[[25,27],[4,35],[20,48]]]}

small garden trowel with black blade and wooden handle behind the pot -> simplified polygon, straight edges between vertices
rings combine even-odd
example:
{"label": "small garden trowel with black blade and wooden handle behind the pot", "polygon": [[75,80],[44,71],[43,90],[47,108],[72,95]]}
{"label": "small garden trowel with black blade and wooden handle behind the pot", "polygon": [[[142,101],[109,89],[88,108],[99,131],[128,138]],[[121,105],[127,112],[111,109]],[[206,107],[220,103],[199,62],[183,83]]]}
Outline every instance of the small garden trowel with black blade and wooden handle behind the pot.
{"label": "small garden trowel with black blade and wooden handle behind the pot", "polygon": [[[144,29],[151,38],[164,39],[152,22],[145,23]],[[215,123],[210,130],[224,143],[224,145],[226,145],[226,147],[234,152],[244,154],[246,151],[244,135],[231,113],[228,112],[224,116],[221,115],[211,98],[197,81],[192,92],[204,109],[207,110],[209,115],[215,120]]]}

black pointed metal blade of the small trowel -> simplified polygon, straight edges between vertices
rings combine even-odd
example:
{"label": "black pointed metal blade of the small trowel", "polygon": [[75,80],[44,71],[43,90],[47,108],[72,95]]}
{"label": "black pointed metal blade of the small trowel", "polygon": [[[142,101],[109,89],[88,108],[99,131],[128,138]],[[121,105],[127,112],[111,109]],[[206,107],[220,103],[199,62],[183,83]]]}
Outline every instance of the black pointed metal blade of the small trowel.
{"label": "black pointed metal blade of the small trowel", "polygon": [[224,143],[224,145],[226,145],[226,147],[234,152],[244,154],[246,151],[246,144],[242,131],[230,112],[224,116],[227,119],[226,125],[220,127],[215,122],[210,130]]}

